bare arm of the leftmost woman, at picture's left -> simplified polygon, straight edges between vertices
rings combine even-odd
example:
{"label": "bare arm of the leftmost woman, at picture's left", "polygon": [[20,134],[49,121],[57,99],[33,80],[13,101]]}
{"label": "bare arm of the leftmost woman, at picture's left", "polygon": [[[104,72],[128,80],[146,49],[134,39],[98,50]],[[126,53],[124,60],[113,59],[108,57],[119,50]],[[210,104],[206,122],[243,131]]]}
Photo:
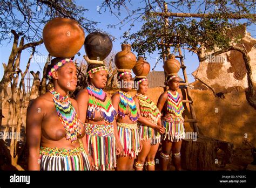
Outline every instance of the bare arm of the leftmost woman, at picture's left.
{"label": "bare arm of the leftmost woman, at picture's left", "polygon": [[26,113],[26,143],[28,144],[28,170],[40,170],[39,151],[41,144],[41,124],[44,117],[42,99],[35,99]]}

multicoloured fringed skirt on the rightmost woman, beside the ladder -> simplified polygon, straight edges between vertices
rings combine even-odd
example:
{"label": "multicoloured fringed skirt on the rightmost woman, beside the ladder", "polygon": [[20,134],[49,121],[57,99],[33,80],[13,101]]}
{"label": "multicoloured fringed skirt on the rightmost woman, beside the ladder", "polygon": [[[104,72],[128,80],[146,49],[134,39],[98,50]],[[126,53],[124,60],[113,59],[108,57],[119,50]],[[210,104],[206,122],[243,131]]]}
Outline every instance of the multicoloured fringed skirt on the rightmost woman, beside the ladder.
{"label": "multicoloured fringed skirt on the rightmost woman, beside the ladder", "polygon": [[178,142],[185,138],[184,119],[182,116],[168,114],[161,118],[161,123],[165,127],[163,140]]}

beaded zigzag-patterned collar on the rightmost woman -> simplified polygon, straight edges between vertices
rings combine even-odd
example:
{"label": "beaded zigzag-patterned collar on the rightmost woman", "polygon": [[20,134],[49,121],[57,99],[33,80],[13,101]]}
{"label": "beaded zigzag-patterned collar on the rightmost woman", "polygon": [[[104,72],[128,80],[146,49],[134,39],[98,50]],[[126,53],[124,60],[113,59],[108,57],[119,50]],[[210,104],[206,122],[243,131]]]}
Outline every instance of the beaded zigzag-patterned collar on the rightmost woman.
{"label": "beaded zigzag-patterned collar on the rightmost woman", "polygon": [[177,116],[181,116],[184,111],[184,106],[180,99],[179,93],[176,91],[175,94],[173,95],[171,91],[168,90],[167,94],[167,111]]}

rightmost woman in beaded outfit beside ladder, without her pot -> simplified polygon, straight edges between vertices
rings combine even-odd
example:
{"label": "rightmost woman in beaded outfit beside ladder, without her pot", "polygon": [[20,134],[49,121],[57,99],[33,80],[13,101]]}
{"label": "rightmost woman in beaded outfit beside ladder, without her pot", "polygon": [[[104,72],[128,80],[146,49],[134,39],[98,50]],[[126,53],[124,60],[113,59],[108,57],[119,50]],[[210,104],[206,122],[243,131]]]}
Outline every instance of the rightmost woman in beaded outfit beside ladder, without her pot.
{"label": "rightmost woman in beaded outfit beside ladder, without her pot", "polygon": [[167,76],[169,90],[160,95],[157,107],[163,112],[161,122],[165,127],[165,133],[162,135],[162,149],[160,153],[161,168],[167,170],[169,156],[172,151],[172,160],[176,170],[181,170],[180,149],[182,140],[185,138],[184,119],[182,113],[184,106],[183,96],[178,93],[179,76],[169,74]]}

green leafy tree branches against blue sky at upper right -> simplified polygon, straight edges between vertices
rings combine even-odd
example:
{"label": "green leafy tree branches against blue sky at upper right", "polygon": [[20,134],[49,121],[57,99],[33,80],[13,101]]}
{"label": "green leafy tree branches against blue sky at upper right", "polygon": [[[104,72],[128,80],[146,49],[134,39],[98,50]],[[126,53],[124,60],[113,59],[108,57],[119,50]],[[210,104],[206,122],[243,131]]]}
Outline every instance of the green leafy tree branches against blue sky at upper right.
{"label": "green leafy tree branches against blue sky at upper right", "polygon": [[[126,4],[118,1],[109,2],[111,4],[119,4],[124,6],[127,10]],[[130,2],[130,1],[129,1]],[[166,1],[167,2],[167,1]],[[130,2],[131,3],[131,2]],[[242,24],[255,24],[254,13],[255,4],[252,1],[222,1],[222,0],[207,0],[207,1],[190,1],[180,0],[167,2],[168,12],[179,13],[207,13],[210,17],[168,17],[168,25],[165,23],[165,16],[156,16],[156,12],[165,12],[164,1],[142,1],[144,7],[139,7],[130,12],[137,12],[141,17],[139,22],[143,23],[141,29],[137,32],[131,33],[131,28],[128,33],[124,33],[124,43],[131,43],[134,51],[138,55],[145,55],[145,53],[153,53],[159,51],[163,56],[167,54],[165,44],[172,45],[172,51],[176,51],[179,46],[186,47],[193,52],[200,52],[202,48],[212,51],[216,48],[226,48],[231,45],[230,29],[232,27],[241,26]],[[158,8],[158,10],[157,10]],[[231,18],[231,15],[247,15],[243,23],[236,22],[236,18]],[[137,16],[136,15],[136,16]],[[125,20],[138,19],[136,16],[129,14]],[[122,22],[123,24],[123,22]],[[121,25],[122,25],[121,24]],[[131,26],[132,27],[132,26]],[[239,41],[241,37],[235,36],[233,41]]]}

